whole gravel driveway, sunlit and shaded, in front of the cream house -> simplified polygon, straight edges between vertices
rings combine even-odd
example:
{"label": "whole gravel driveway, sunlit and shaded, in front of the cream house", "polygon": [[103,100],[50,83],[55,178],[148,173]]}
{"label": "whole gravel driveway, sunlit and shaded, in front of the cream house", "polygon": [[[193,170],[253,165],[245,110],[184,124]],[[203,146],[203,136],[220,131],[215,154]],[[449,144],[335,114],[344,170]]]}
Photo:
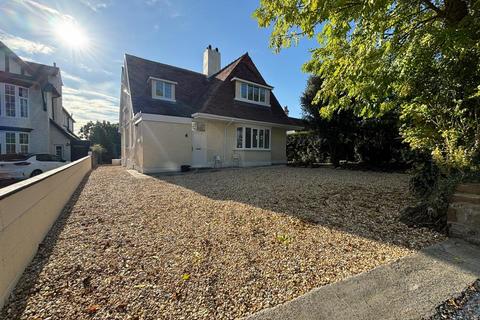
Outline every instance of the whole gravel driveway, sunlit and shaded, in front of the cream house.
{"label": "whole gravel driveway, sunlit and shaded, in front of the cream house", "polygon": [[230,319],[442,240],[398,222],[408,176],[93,171],[1,319]]}

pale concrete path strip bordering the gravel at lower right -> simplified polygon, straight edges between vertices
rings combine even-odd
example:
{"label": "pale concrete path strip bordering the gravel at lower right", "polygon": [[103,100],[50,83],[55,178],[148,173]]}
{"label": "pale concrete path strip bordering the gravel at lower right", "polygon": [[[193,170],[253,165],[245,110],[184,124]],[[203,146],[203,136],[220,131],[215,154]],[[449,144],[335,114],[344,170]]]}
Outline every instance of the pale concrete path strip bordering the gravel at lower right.
{"label": "pale concrete path strip bordering the gravel at lower right", "polygon": [[449,239],[247,319],[420,319],[478,278],[480,247]]}

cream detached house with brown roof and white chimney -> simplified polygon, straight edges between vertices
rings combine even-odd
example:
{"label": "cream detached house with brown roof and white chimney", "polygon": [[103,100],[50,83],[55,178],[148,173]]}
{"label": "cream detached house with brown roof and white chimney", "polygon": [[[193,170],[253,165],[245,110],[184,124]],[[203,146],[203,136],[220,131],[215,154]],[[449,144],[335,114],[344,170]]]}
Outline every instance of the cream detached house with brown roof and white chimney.
{"label": "cream detached house with brown roof and white chimney", "polygon": [[288,117],[248,53],[203,73],[125,55],[120,99],[122,164],[140,172],[286,163]]}

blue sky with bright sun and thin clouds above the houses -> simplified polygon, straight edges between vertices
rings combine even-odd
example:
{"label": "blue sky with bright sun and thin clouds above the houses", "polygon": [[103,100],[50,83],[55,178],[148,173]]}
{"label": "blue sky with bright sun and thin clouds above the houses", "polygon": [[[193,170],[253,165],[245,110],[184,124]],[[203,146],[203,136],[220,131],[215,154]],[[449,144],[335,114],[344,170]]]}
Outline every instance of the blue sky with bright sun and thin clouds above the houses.
{"label": "blue sky with bright sun and thin clouds above the houses", "polygon": [[269,29],[252,13],[258,0],[0,0],[0,40],[27,61],[61,69],[63,104],[76,131],[86,122],[118,122],[125,53],[202,72],[204,49],[222,67],[248,52],[290,116],[301,117],[301,71],[314,40],[274,53]]}

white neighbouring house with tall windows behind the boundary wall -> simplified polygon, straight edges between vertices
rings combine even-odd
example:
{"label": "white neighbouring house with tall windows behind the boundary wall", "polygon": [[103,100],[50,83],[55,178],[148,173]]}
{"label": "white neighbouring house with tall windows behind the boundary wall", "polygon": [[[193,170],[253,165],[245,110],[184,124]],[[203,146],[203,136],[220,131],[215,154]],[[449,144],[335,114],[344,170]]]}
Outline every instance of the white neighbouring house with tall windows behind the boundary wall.
{"label": "white neighbouring house with tall windows behind the boundary wall", "polygon": [[0,41],[0,154],[78,158],[72,148],[84,143],[74,122],[62,106],[60,69],[25,61]]}

